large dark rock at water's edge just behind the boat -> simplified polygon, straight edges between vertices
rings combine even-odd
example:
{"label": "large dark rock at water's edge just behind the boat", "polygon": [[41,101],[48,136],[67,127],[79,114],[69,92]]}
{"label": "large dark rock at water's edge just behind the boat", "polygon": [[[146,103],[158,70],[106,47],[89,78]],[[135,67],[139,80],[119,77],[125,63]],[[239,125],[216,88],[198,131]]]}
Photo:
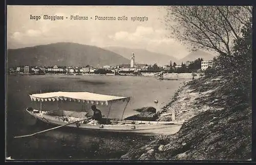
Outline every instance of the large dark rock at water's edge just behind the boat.
{"label": "large dark rock at water's edge just behind the boat", "polygon": [[152,106],[135,109],[135,111],[140,112],[140,114],[127,117],[125,120],[156,121],[158,118],[158,115],[156,114],[156,108]]}

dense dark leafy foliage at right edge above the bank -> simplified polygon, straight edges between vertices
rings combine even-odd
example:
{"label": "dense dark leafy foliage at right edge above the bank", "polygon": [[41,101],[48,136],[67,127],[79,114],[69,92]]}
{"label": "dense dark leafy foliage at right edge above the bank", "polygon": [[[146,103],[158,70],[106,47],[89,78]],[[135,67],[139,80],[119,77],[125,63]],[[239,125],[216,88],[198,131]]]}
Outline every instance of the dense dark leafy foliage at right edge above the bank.
{"label": "dense dark leafy foliage at right edge above the bank", "polygon": [[[234,41],[234,53],[227,57],[221,54],[214,59],[218,74],[230,75],[233,77],[233,89],[236,94],[242,95],[245,102],[251,98],[252,80],[252,19],[242,28],[243,37]],[[250,104],[250,101],[249,101]]]}

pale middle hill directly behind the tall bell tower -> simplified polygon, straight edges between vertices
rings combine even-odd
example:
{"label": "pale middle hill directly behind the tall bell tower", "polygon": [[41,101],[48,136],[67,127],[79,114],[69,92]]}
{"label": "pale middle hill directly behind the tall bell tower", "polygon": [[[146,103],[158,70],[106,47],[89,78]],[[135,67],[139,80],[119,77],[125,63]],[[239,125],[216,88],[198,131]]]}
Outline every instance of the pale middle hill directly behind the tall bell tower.
{"label": "pale middle hill directly behind the tall bell tower", "polygon": [[138,64],[153,65],[157,63],[157,65],[168,65],[170,61],[173,61],[173,62],[178,61],[176,58],[172,56],[148,51],[145,49],[132,49],[132,48],[125,48],[125,47],[117,47],[117,46],[104,47],[104,49],[118,53],[126,59],[130,59],[132,52],[134,52],[135,63],[138,63]]}

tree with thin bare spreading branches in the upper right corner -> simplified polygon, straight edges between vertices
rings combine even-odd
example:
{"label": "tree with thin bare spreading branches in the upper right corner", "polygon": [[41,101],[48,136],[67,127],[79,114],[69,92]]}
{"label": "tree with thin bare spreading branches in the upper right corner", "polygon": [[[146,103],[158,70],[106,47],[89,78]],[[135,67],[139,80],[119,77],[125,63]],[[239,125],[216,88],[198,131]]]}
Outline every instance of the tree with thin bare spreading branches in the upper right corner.
{"label": "tree with thin bare spreading branches in the upper right corner", "polygon": [[[242,37],[242,26],[249,26],[250,6],[171,6],[166,25],[171,37],[191,47],[211,49],[230,56],[233,41]],[[173,23],[170,23],[173,20]]]}

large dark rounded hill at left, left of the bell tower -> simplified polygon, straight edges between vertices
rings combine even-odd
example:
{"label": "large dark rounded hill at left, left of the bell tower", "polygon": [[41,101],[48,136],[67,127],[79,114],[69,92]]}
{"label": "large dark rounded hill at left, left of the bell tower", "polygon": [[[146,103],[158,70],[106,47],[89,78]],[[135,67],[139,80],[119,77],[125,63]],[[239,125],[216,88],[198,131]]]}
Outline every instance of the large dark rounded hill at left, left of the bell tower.
{"label": "large dark rounded hill at left, left of the bell tower", "polygon": [[129,64],[130,60],[96,46],[60,42],[7,50],[8,67],[37,66],[103,66]]}

